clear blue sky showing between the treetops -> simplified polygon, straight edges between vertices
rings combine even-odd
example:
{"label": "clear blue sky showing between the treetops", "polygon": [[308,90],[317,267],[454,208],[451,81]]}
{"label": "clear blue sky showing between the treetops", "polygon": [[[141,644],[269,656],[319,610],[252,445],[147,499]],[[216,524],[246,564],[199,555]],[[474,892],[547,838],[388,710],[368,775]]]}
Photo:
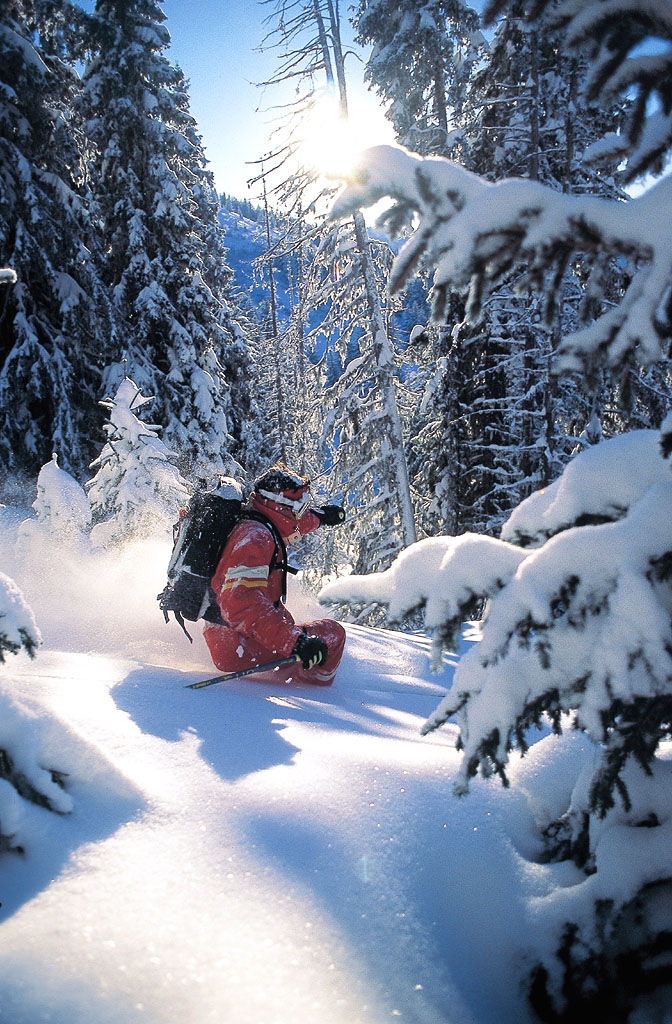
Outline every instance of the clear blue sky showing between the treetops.
{"label": "clear blue sky showing between the treetops", "polygon": [[[203,138],[218,191],[256,198],[247,180],[252,162],[268,150],[271,104],[278,94],[256,87],[272,73],[271,54],[257,52],[271,9],[255,0],[164,0],[171,36],[168,58],[190,80],[192,114]],[[366,116],[371,144],[390,141],[372,94],[361,85],[360,65],[350,59],[350,109]]]}

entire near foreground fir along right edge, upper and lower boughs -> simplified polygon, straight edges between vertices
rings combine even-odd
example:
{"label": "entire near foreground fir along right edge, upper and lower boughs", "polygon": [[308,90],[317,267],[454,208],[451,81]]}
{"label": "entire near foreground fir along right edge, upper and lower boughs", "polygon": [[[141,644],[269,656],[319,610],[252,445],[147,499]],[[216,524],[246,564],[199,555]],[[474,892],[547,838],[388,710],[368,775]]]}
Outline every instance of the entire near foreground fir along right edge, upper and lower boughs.
{"label": "entire near foreground fir along right edge, upper and lower boughs", "polygon": [[[566,26],[571,45],[592,45],[589,97],[607,106],[622,89],[634,97],[623,133],[594,155],[617,146],[623,158],[627,146],[631,176],[659,171],[672,143],[668,0],[580,0],[553,7],[552,19]],[[652,34],[663,45],[640,52]],[[515,262],[524,264],[528,286],[545,292],[552,316],[561,271],[576,254],[622,257],[633,273],[621,301],[586,309],[585,323],[559,343],[555,369],[623,380],[637,365],[669,366],[669,178],[626,203],[530,180],[491,183],[449,161],[383,147],[369,152],[335,212],[383,196],[393,200],[388,221],[414,212],[418,225],[397,256],[392,285],[428,261],[439,323],[460,289],[468,290],[466,317],[475,321]],[[480,617],[480,642],[426,725],[457,717],[459,792],[479,769],[505,779],[511,752],[526,751],[532,725],[574,726],[593,741],[566,807],[538,821],[539,859],[570,860],[582,871],[548,908],[555,955],[546,950],[539,959],[530,950],[531,965],[537,957],[530,995],[542,1020],[588,1013],[614,1022],[663,1020],[672,994],[671,455],[668,416],[660,431],[634,431],[579,455],[514,511],[501,539],[428,539],[387,573],[350,577],[324,594],[388,603],[397,617],[424,609],[437,655],[454,644],[465,617]],[[629,858],[636,871],[619,879],[606,865],[624,844],[639,856]]]}

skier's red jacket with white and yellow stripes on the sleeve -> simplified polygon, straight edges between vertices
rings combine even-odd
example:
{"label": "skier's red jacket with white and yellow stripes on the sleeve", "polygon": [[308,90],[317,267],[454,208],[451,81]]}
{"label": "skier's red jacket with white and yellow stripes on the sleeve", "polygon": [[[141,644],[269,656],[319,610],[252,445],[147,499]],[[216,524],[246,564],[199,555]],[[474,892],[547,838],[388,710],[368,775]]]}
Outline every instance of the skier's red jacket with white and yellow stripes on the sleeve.
{"label": "skier's red jacket with white and yellow stripes on the sleeve", "polygon": [[[252,508],[255,509],[254,502]],[[277,527],[280,541],[265,523],[243,519],[226,542],[212,589],[222,618],[233,630],[286,657],[302,631],[283,604],[285,540],[291,536],[288,530],[309,534],[321,520],[308,510],[298,521],[290,523],[266,507],[261,510]]]}

